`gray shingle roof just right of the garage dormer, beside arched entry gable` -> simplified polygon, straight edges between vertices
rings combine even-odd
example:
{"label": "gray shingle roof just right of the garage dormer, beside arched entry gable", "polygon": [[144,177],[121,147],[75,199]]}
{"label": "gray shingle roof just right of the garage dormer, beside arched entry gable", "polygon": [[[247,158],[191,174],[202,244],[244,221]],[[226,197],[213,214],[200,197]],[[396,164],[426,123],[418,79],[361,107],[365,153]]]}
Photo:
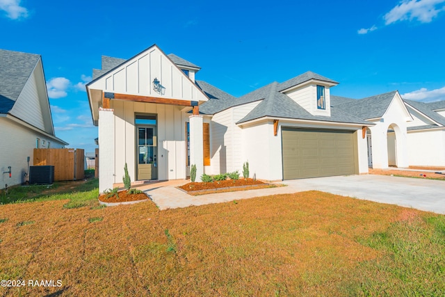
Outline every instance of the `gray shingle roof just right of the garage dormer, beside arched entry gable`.
{"label": "gray shingle roof just right of the garage dormer, beside arched entry gable", "polygon": [[385,114],[385,111],[387,111],[389,104],[394,98],[394,95],[396,95],[396,92],[397,91],[394,90],[389,93],[358,99],[355,100],[355,102],[345,102],[335,107],[341,109],[341,111],[345,113],[355,115],[356,117],[364,120],[381,118]]}

